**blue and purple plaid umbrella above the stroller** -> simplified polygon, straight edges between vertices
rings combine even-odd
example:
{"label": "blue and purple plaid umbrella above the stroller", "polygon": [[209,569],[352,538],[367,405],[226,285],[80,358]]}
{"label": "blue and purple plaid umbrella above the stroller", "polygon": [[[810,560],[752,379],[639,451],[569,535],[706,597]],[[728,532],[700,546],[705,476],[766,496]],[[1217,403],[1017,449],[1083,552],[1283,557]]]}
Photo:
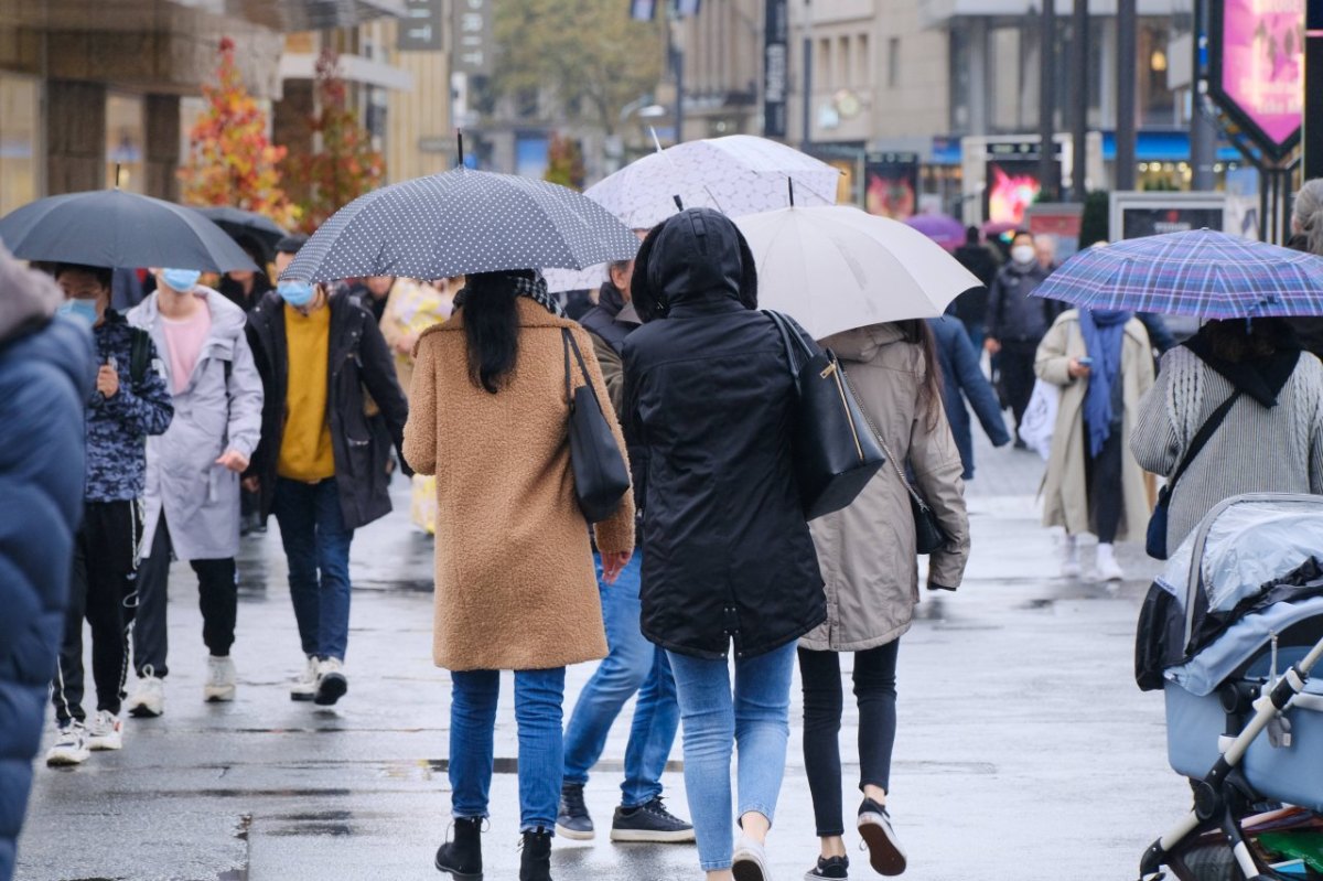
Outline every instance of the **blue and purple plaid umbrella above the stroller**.
{"label": "blue and purple plaid umbrella above the stroller", "polygon": [[1201,319],[1323,315],[1323,258],[1200,229],[1090,247],[1035,295]]}

